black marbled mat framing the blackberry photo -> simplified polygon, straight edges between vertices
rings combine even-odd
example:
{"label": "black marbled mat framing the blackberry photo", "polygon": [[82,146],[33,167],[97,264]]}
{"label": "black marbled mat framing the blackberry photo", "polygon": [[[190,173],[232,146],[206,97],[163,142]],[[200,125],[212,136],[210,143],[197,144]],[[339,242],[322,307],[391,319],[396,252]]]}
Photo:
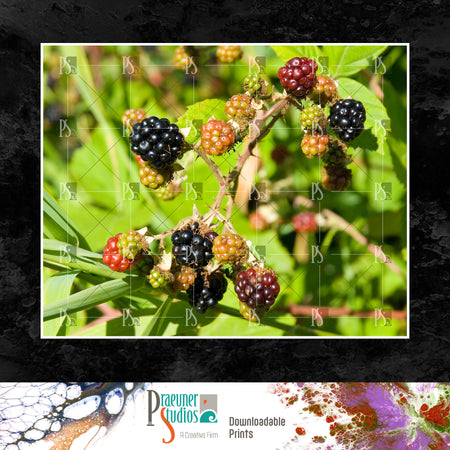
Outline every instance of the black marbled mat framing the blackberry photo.
{"label": "black marbled mat framing the blackberry photo", "polygon": [[[450,9],[380,3],[1,2],[0,379],[449,381]],[[40,340],[40,42],[233,41],[410,42],[411,339]]]}

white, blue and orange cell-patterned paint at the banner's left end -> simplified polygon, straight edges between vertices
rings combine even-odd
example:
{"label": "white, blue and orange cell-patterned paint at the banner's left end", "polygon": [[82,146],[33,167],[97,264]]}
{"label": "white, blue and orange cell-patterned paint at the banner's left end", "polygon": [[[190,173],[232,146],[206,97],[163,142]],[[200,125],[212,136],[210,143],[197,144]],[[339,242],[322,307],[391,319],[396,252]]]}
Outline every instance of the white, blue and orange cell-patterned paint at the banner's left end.
{"label": "white, blue and orange cell-patterned paint at the banner's left end", "polygon": [[112,448],[105,440],[143,397],[142,383],[2,383],[0,449]]}

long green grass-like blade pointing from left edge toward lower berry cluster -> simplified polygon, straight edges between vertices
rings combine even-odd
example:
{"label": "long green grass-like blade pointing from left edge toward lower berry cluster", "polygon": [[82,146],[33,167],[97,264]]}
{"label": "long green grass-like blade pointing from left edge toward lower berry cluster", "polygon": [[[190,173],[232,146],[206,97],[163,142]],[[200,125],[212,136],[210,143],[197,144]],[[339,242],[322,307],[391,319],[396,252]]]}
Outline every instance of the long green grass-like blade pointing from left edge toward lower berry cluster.
{"label": "long green grass-like blade pointing from left edge toward lower berry cluster", "polygon": [[60,317],[61,312],[70,314],[83,311],[100,303],[105,303],[115,298],[127,295],[144,286],[145,279],[128,277],[121,280],[111,280],[98,284],[91,288],[77,292],[76,294],[59,299],[44,306],[44,320]]}

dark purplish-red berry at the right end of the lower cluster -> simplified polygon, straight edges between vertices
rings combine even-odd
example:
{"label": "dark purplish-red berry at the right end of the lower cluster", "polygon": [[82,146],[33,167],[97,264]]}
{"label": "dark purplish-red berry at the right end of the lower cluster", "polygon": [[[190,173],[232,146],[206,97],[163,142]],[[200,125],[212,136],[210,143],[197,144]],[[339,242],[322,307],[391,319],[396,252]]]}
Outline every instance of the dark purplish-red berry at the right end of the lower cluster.
{"label": "dark purplish-red berry at the right end of the lower cluster", "polygon": [[272,306],[280,293],[278,277],[273,270],[250,268],[239,272],[234,290],[241,302],[250,308]]}

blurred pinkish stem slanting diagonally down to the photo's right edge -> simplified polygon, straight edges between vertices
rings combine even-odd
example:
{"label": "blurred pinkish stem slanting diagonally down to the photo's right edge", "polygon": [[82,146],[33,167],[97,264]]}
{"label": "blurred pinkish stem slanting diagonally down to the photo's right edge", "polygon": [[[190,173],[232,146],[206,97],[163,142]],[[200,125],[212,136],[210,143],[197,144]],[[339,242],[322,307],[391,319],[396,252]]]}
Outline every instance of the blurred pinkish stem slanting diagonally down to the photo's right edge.
{"label": "blurred pinkish stem slanting diagonally down to the photo's right edge", "polygon": [[[294,206],[305,206],[306,208],[313,208],[314,203],[309,198],[298,195],[295,197]],[[355,239],[361,245],[364,245],[370,253],[375,255],[382,263],[386,264],[391,270],[400,275],[402,278],[406,278],[403,270],[395,264],[390,258],[388,258],[380,247],[372,244],[363,234],[361,234],[351,223],[347,222],[343,217],[334,213],[329,209],[322,209],[320,211],[322,216],[326,219],[327,224],[330,227],[336,228],[340,231],[344,231],[350,237]]]}

